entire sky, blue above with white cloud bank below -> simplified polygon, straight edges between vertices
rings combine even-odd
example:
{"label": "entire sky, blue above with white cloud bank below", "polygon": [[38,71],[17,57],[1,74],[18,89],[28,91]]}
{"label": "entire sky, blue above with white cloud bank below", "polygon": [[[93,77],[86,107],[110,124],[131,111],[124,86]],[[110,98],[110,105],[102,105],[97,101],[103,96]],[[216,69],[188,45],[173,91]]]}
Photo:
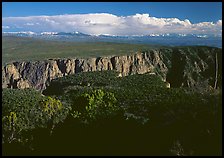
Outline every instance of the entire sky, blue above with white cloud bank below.
{"label": "entire sky, blue above with white cloud bank below", "polygon": [[111,35],[222,33],[221,2],[3,2],[2,30]]}

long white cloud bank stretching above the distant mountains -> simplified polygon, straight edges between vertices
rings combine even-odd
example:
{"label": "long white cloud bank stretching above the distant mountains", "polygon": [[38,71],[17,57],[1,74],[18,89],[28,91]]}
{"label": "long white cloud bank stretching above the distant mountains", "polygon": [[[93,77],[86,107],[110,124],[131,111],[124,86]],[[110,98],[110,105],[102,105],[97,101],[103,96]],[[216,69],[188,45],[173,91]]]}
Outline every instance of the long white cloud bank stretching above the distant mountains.
{"label": "long white cloud bank stretching above the distant mountains", "polygon": [[[10,28],[10,29],[9,29]],[[222,20],[191,23],[188,19],[156,18],[149,14],[116,16],[108,13],[2,18],[3,31],[73,32],[109,35],[152,33],[222,34]],[[7,29],[7,30],[6,30]]]}

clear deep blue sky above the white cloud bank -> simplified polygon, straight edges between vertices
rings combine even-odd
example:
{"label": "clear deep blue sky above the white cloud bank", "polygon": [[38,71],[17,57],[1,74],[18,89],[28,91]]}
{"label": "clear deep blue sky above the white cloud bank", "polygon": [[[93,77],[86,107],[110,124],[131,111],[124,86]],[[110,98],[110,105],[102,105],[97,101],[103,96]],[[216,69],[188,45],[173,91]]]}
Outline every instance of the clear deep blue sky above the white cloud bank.
{"label": "clear deep blue sky above the white cloud bank", "polygon": [[4,2],[2,16],[148,13],[155,17],[189,19],[192,23],[222,19],[221,2]]}

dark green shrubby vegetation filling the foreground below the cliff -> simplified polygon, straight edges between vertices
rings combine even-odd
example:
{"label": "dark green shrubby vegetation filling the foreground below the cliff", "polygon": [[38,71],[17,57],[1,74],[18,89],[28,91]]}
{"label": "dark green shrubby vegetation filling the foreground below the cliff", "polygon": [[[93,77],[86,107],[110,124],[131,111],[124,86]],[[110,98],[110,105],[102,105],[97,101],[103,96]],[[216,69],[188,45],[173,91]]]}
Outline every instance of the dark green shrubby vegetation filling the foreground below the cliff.
{"label": "dark green shrubby vegetation filling the foreground below the cliff", "polygon": [[221,155],[221,90],[82,72],[3,89],[3,155]]}

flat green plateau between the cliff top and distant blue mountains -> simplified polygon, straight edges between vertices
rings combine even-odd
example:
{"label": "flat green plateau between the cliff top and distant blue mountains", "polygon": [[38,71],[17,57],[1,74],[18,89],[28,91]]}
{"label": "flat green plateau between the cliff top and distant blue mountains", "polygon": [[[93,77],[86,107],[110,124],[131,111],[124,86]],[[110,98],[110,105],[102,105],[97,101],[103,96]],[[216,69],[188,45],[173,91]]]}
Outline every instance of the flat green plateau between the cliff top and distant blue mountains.
{"label": "flat green plateau between the cliff top and distant blue mountains", "polygon": [[49,58],[127,55],[154,47],[158,47],[158,45],[51,41],[31,37],[3,36],[2,64],[15,61],[38,61]]}

